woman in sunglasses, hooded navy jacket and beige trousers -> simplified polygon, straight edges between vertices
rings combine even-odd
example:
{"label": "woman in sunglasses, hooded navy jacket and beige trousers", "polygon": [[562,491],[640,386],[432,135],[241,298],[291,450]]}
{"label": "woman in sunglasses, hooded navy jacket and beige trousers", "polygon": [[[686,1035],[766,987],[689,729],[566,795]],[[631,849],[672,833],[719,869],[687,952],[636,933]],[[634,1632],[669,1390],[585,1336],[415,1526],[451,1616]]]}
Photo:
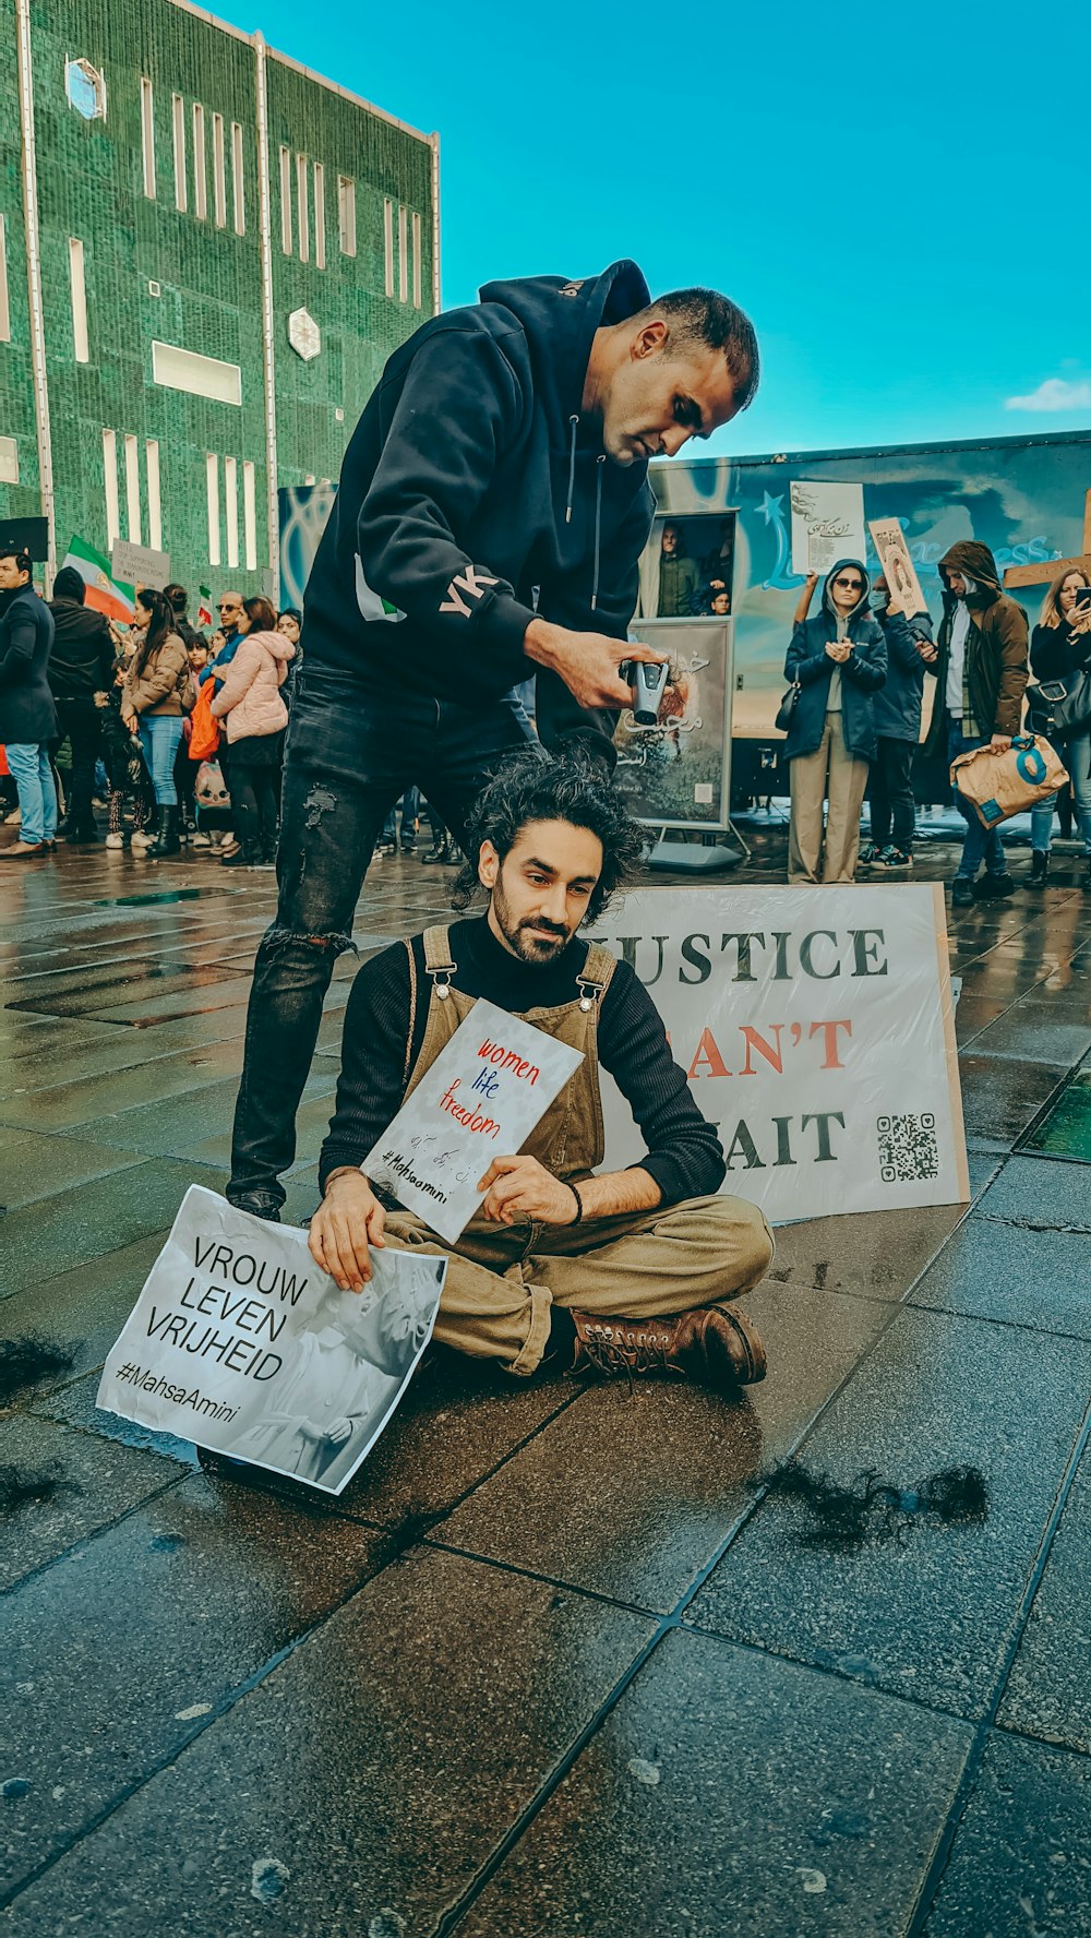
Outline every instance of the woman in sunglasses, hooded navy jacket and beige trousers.
{"label": "woman in sunglasses, hooded navy jacket and beige trousers", "polygon": [[888,667],[884,630],[868,609],[868,574],[860,560],[837,560],[822,587],[822,610],[808,618],[816,585],[818,576],[808,576],[785,661],[785,678],[798,686],[783,750],[791,764],[793,884],[855,880],[868,764],[876,758],[874,696]]}

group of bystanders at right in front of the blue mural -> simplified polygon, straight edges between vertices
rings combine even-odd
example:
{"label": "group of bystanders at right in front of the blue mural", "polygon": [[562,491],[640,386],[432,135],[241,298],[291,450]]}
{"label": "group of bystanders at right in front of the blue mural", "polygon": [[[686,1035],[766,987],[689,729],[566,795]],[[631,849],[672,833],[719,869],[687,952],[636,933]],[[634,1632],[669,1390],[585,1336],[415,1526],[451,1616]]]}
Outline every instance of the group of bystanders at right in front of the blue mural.
{"label": "group of bystanders at right in front of the blue mural", "polygon": [[[905,876],[913,868],[917,806],[913,760],[920,744],[924,682],[934,678],[924,756],[955,762],[990,748],[1006,752],[1019,733],[1041,733],[1068,769],[1072,812],[1083,837],[1091,888],[1091,719],[1060,733],[1050,682],[1091,671],[1091,579],[1081,568],[1050,585],[1029,638],[1023,607],[1000,587],[986,545],[963,539],[940,560],[944,616],[932,638],[928,612],[913,610],[905,587],[874,587],[858,558],[841,558],[806,579],[785,661],[791,680],[779,725],[791,775],[789,882],[853,882]],[[1037,686],[1029,680],[1039,682]],[[1023,707],[1027,717],[1023,721]],[[860,847],[860,810],[870,800],[870,839]],[[824,816],[826,804],[826,816]],[[951,884],[955,909],[1004,899],[1015,882],[998,828],[986,828],[955,787],[967,824]],[[1031,814],[1029,886],[1048,878],[1058,797]]]}

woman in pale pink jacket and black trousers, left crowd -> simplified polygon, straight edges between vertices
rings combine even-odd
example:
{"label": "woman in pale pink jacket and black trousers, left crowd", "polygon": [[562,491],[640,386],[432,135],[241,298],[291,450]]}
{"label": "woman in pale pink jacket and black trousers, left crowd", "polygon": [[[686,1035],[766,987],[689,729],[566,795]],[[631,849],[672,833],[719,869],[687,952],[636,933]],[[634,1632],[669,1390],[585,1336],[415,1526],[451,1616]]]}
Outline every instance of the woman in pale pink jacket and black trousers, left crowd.
{"label": "woman in pale pink jacket and black trousers, left crowd", "polygon": [[258,868],[275,860],[281,798],[281,754],[289,709],[281,696],[295,645],[277,632],[267,599],[244,599],[238,622],[242,641],[223,686],[211,702],[227,721],[231,748],[231,806],[238,847],[223,868]]}

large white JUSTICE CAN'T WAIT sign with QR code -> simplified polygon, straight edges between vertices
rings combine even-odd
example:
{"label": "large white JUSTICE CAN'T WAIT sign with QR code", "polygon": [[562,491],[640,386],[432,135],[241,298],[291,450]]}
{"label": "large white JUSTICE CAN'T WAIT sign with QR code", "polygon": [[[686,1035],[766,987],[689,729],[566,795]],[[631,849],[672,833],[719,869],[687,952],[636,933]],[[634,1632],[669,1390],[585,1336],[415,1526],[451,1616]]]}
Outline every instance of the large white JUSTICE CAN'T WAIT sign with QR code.
{"label": "large white JUSTICE CAN'T WAIT sign with QR code", "polygon": [[[965,1203],[938,884],[643,890],[605,942],[636,969],[727,1157],[771,1223]],[[607,1167],[639,1136],[603,1078]]]}

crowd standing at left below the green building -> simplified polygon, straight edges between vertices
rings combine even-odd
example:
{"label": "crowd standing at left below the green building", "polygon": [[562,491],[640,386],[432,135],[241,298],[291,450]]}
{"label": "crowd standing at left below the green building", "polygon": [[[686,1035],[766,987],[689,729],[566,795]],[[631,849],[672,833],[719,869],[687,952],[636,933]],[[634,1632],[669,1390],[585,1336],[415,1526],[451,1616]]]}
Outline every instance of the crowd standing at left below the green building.
{"label": "crowd standing at left below the green building", "polygon": [[[273,864],[302,614],[225,591],[203,630],[188,605],[184,585],[141,585],[124,626],[87,605],[74,566],[43,601],[31,558],[0,558],[0,820],[19,829],[4,860],[95,843],[105,816],[107,849],[145,860],[192,847],[217,849],[225,868]],[[422,860],[457,864],[428,814]],[[419,816],[411,789],[403,853]],[[393,826],[380,853],[395,853]]]}

